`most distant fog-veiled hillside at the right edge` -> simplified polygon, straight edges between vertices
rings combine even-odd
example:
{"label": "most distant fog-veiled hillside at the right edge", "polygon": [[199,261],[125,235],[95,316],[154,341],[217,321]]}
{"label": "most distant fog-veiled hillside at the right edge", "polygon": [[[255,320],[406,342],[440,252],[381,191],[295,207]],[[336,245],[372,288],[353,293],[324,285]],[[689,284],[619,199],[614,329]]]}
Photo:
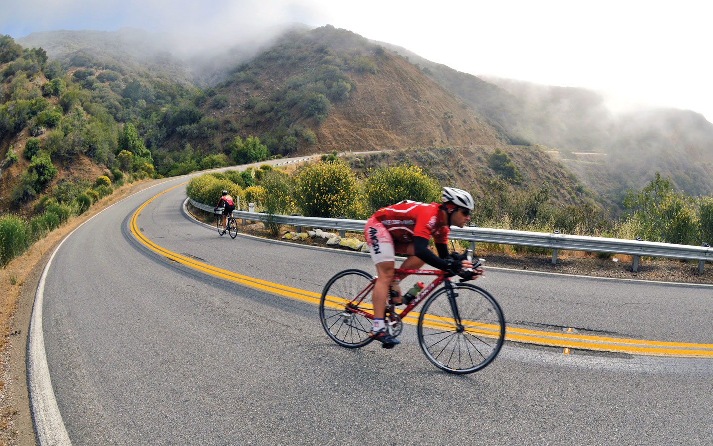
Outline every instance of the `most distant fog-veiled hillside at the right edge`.
{"label": "most distant fog-veiled hillside at the right edge", "polygon": [[713,124],[699,113],[650,108],[614,114],[600,94],[583,88],[489,80],[527,103],[528,116],[548,123],[550,130],[536,141],[570,152],[606,153],[562,162],[604,196],[612,211],[621,211],[627,189],[644,187],[657,171],[691,196],[713,193]]}

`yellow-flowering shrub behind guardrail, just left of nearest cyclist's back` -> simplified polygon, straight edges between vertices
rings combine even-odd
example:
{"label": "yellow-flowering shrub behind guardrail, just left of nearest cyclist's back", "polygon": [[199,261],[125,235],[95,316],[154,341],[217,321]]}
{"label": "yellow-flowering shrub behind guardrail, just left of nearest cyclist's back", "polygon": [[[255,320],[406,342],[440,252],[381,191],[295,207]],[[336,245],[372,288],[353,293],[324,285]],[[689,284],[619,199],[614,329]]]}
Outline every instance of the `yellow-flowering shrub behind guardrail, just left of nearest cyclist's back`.
{"label": "yellow-flowering shrub behind guardrail, just left of nearest cyclist's back", "polygon": [[295,175],[294,198],[304,216],[354,217],[360,213],[356,178],[347,163],[308,164]]}

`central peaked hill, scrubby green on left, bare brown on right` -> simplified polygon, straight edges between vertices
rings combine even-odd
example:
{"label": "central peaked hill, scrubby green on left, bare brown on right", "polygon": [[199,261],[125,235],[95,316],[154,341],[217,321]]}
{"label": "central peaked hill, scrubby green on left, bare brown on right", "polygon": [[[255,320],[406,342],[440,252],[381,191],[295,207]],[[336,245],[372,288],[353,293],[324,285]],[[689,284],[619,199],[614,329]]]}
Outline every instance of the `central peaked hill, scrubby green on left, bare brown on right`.
{"label": "central peaked hill, scrubby green on left, bare brown on right", "polygon": [[[319,122],[300,110],[304,96],[294,85],[295,79],[310,78],[302,85],[321,85],[315,89],[327,91],[334,78],[319,78],[325,70],[348,78],[351,91],[346,98],[327,93],[331,106]],[[216,109],[206,101],[200,108],[221,123],[217,132],[223,145],[235,133],[262,141],[279,139],[280,134],[289,134],[290,126],[309,129],[317,141],[298,135],[297,148],[273,146],[273,153],[504,144],[478,113],[409,61],[358,34],[330,26],[286,34],[212,94],[225,96],[227,106]],[[290,101],[290,95],[298,99]],[[246,107],[249,99],[261,104]],[[203,147],[206,141],[195,138],[190,143]]]}

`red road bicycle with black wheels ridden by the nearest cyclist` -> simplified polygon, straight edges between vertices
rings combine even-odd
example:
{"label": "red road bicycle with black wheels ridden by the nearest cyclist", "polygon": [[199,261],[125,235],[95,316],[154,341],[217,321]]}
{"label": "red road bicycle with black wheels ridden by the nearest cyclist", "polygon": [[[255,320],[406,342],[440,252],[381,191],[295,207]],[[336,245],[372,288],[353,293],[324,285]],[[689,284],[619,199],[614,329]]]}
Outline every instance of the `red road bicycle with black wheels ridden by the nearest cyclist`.
{"label": "red road bicycle with black wheels ridden by the nearest cyclist", "polygon": [[[480,267],[484,261],[480,259],[473,268]],[[452,274],[446,271],[396,269],[395,272],[436,275],[436,279],[400,313],[389,298],[384,320],[392,336],[401,334],[404,321],[416,323],[419,344],[426,358],[446,372],[476,372],[495,359],[505,338],[505,317],[490,293],[463,283],[468,279],[452,283]],[[327,282],[319,302],[319,317],[335,343],[360,348],[373,340],[369,332],[374,319],[371,303],[374,283],[376,277],[357,269],[343,270]],[[441,284],[443,286],[431,295]],[[424,300],[421,313],[409,315]]]}

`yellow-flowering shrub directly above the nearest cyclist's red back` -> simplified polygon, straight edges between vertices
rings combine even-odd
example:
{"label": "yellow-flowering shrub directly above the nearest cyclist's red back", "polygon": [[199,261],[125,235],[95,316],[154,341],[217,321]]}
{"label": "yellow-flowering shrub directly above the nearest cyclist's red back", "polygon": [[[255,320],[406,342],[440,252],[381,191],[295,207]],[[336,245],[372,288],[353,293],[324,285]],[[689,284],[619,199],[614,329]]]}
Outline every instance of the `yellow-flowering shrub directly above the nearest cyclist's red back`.
{"label": "yellow-flowering shrub directly above the nearest cyclist's red back", "polygon": [[434,178],[429,178],[417,166],[379,168],[369,173],[364,181],[364,195],[369,211],[402,200],[431,203],[438,201],[441,188]]}

